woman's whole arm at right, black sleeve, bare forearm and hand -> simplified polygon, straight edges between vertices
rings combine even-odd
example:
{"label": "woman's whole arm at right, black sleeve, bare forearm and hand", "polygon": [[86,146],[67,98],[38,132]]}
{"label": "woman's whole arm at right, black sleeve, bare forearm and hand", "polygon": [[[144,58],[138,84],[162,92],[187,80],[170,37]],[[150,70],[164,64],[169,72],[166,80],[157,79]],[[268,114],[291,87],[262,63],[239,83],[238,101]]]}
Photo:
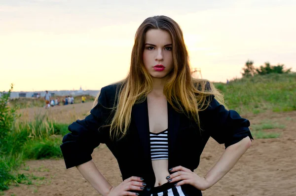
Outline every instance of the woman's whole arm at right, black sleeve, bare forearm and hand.
{"label": "woman's whole arm at right, black sleeve, bare forearm and hand", "polygon": [[225,151],[205,177],[199,177],[183,166],[172,168],[170,171],[175,173],[167,179],[172,183],[180,181],[175,186],[190,184],[201,191],[210,188],[235,165],[251,146],[253,137],[249,129],[250,121],[241,118],[234,110],[226,110],[214,96],[210,98],[210,101],[209,107],[200,113],[200,121],[204,130],[208,130],[212,138],[224,144]]}

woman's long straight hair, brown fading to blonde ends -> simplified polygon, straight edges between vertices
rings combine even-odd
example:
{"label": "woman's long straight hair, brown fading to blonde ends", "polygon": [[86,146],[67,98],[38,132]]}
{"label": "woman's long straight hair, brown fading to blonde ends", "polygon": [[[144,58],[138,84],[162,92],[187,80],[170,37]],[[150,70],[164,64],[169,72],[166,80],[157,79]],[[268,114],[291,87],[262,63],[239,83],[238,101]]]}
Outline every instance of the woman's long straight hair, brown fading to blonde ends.
{"label": "woman's long straight hair, brown fading to blonde ends", "polygon": [[[145,34],[150,29],[164,30],[171,35],[174,70],[164,85],[164,94],[173,108],[194,118],[199,125],[198,112],[209,106],[207,101],[209,95],[215,95],[215,98],[224,104],[222,94],[211,82],[192,78],[188,52],[180,26],[167,16],[149,17],[136,32],[128,76],[118,85],[116,93],[118,99],[115,98],[113,105],[115,113],[110,123],[110,135],[113,139],[121,139],[126,135],[131,122],[132,107],[134,104],[143,102],[152,90],[152,78],[142,58]],[[94,104],[96,102],[97,98]]]}

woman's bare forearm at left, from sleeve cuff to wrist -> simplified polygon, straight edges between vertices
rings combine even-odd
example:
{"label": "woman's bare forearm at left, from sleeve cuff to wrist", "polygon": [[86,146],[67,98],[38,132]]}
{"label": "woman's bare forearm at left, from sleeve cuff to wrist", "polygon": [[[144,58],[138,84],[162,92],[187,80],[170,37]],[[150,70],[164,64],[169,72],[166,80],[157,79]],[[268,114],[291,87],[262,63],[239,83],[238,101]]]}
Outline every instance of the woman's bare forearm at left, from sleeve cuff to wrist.
{"label": "woman's bare forearm at left, from sleeve cuff to wrist", "polygon": [[77,165],[76,167],[89,184],[91,184],[102,196],[106,196],[110,192],[112,188],[111,184],[106,180],[92,160]]}

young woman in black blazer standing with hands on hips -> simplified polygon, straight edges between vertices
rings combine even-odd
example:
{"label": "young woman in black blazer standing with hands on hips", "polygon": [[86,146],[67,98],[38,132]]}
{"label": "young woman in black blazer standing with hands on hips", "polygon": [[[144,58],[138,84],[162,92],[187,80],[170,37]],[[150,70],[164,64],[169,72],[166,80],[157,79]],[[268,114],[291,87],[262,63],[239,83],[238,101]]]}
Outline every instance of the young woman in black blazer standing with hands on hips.
{"label": "young woman in black blazer standing with hands on hips", "polygon": [[[61,149],[103,196],[201,196],[251,146],[250,122],[223,106],[214,85],[190,74],[179,25],[169,17],[147,18],[137,30],[130,71],[101,89],[90,115],[69,126]],[[193,172],[209,139],[225,145],[204,176]],[[92,161],[105,143],[122,174],[113,187]]]}

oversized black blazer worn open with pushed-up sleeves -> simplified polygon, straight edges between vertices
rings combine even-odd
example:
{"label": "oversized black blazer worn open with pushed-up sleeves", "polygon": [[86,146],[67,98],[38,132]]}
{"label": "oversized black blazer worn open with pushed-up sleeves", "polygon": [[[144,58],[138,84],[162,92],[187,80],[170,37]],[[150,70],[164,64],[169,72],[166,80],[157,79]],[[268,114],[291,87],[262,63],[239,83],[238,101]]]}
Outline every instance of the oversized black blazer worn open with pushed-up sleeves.
{"label": "oversized black blazer worn open with pushed-up sleeves", "polygon": [[[119,141],[112,141],[110,127],[103,125],[112,118],[113,112],[108,108],[113,107],[116,87],[117,84],[103,87],[98,104],[90,111],[90,115],[69,126],[70,133],[64,136],[61,145],[66,168],[91,160],[94,148],[104,143],[117,159],[122,179],[142,177],[147,183],[146,190],[149,190],[154,186],[155,176],[150,157],[147,99],[133,106],[127,135]],[[196,169],[210,136],[224,144],[225,148],[247,136],[253,139],[248,128],[249,120],[241,118],[233,110],[226,110],[214,96],[211,98],[210,106],[199,112],[201,130],[193,119],[176,112],[168,103],[168,169],[178,165],[191,171]],[[196,195],[201,194],[191,186],[186,189],[191,189],[189,192]]]}

